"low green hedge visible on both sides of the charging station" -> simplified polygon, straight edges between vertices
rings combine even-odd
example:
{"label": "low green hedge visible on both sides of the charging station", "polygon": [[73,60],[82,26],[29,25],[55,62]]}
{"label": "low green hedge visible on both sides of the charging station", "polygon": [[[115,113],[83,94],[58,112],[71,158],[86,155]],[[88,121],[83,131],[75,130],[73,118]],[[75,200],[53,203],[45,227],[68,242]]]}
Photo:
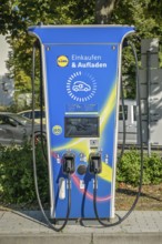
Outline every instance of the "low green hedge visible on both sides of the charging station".
{"label": "low green hedge visible on both sides of the charging station", "polygon": [[[37,146],[38,183],[43,202],[49,202],[48,165],[42,155],[42,149]],[[117,165],[117,183],[124,182],[133,186],[139,184],[140,154],[131,150],[124,153]],[[159,184],[162,182],[162,159],[158,154],[144,156],[143,184]],[[32,148],[23,144],[21,148],[0,146],[0,200],[2,203],[20,204],[37,201],[33,169]]]}

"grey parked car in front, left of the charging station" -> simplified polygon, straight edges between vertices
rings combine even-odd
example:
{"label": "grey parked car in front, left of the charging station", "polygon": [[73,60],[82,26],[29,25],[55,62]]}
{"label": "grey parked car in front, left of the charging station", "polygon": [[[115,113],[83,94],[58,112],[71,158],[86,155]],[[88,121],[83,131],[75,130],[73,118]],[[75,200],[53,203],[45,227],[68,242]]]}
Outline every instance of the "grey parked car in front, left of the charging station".
{"label": "grey parked car in front, left of the charging station", "polygon": [[[36,143],[40,140],[40,125],[34,125]],[[21,144],[24,140],[32,139],[32,123],[29,119],[16,113],[0,112],[0,143],[9,145],[11,143]],[[45,129],[43,126],[43,139],[45,140]]]}

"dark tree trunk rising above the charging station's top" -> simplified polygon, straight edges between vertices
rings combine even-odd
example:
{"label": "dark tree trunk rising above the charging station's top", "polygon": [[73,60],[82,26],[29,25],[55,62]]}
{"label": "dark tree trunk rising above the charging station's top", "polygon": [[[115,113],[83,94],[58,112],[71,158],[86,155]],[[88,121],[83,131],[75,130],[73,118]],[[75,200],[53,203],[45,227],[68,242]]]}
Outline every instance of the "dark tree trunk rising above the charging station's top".
{"label": "dark tree trunk rising above the charging station's top", "polygon": [[109,23],[117,0],[95,0],[95,23]]}

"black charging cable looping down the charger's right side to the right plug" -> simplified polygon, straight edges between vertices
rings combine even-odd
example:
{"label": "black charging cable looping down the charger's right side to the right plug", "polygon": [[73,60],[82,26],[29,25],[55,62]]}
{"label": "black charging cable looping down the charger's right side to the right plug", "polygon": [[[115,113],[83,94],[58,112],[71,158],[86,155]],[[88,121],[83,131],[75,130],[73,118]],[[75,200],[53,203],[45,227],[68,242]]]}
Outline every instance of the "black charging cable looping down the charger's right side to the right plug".
{"label": "black charging cable looping down the charger's right side to the right plug", "polygon": [[136,197],[131,206],[131,209],[128,211],[128,213],[123,216],[120,217],[119,221],[114,222],[114,223],[104,223],[98,213],[98,207],[97,207],[97,187],[98,187],[98,174],[94,173],[94,189],[93,189],[93,209],[94,209],[94,213],[97,216],[97,220],[99,221],[99,223],[104,226],[104,227],[111,227],[111,226],[115,226],[118,224],[121,224],[131,213],[132,211],[135,209],[136,203],[140,199],[140,194],[142,191],[142,179],[143,179],[143,136],[142,136],[142,113],[141,113],[141,95],[140,95],[140,75],[139,75],[139,65],[138,65],[138,55],[136,55],[136,51],[135,48],[133,45],[132,42],[128,41],[128,44],[131,47],[134,59],[135,59],[135,68],[136,68],[136,93],[138,93],[138,108],[139,108],[139,131],[140,131],[140,143],[141,143],[141,167],[140,167],[140,182],[139,182],[139,190],[138,190],[138,194]]}

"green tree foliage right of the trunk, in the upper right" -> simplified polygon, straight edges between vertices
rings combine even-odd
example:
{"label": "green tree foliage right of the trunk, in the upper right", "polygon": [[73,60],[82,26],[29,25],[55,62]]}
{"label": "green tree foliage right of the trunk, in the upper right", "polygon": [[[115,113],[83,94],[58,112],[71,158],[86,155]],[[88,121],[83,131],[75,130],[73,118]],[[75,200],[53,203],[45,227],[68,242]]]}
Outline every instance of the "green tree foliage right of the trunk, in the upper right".
{"label": "green tree foliage right of the trunk, in the upper right", "polygon": [[[132,35],[132,41],[138,50],[139,61],[141,55],[141,42],[135,39],[159,38],[162,37],[162,18],[160,13],[160,1],[151,0],[122,0],[115,6],[110,23],[131,24],[136,29],[136,34]],[[155,8],[156,7],[156,8]],[[158,9],[160,11],[158,11]],[[161,52],[162,53],[162,52]],[[160,53],[160,57],[162,55]],[[139,62],[140,64],[140,62]],[[122,74],[124,77],[124,96],[135,98],[135,70],[134,58],[126,48],[123,52]]]}

